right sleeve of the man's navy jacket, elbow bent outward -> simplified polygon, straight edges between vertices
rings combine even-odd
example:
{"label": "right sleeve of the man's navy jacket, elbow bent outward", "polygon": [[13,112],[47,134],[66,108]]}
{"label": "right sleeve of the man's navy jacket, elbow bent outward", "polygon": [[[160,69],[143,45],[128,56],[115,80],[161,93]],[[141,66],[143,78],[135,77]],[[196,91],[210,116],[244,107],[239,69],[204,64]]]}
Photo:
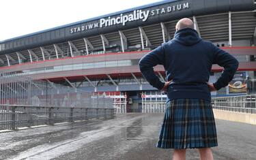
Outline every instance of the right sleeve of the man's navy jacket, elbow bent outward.
{"label": "right sleeve of the man's navy jacket, elbow bent outward", "polygon": [[213,63],[224,67],[220,78],[218,78],[218,80],[214,83],[215,89],[219,90],[224,86],[227,86],[227,84],[229,84],[229,82],[233,79],[233,76],[236,73],[236,69],[238,69],[239,63],[236,58],[234,58],[228,52],[225,52],[225,50],[221,50],[221,48],[218,48],[213,44],[212,46],[214,47]]}

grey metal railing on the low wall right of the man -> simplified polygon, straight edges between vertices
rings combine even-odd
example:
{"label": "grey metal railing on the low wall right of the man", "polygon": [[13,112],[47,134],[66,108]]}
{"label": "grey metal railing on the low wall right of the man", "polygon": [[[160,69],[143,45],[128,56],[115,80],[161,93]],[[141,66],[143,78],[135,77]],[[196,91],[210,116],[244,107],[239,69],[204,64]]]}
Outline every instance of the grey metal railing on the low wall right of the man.
{"label": "grey metal railing on the low wall right of the man", "polygon": [[212,98],[212,107],[218,110],[256,114],[256,95]]}

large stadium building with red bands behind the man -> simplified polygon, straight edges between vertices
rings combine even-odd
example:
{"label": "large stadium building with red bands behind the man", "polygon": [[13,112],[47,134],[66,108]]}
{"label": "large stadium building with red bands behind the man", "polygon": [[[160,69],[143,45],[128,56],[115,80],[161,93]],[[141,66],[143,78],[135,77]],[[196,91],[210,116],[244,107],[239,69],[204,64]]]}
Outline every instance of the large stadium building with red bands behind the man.
{"label": "large stadium building with red bands behind the man", "polygon": [[[152,112],[147,104],[164,101],[165,95],[143,78],[139,59],[172,39],[177,20],[187,17],[203,39],[240,61],[229,86],[212,96],[255,93],[255,8],[255,0],[167,0],[6,39],[0,42],[1,76],[104,92],[124,99],[122,112]],[[154,71],[165,80],[162,66]],[[213,65],[210,82],[221,71]]]}

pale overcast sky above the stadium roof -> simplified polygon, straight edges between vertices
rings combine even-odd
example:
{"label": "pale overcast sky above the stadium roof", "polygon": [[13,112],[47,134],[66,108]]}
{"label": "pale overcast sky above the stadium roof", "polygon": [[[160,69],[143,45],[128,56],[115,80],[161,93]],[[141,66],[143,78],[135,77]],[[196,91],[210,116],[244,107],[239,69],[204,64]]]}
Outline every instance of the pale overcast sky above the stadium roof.
{"label": "pale overcast sky above the stadium roof", "polygon": [[0,41],[160,0],[1,0]]}

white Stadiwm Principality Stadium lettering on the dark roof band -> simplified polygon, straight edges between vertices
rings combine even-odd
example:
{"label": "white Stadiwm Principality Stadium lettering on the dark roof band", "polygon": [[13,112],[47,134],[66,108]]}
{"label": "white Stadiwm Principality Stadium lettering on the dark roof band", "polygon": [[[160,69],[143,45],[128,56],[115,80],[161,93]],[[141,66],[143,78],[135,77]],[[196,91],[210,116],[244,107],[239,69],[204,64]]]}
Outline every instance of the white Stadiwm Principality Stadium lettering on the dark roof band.
{"label": "white Stadiwm Principality Stadium lettering on the dark roof band", "polygon": [[187,2],[158,8],[156,10],[134,10],[131,14],[120,14],[119,16],[115,17],[109,16],[108,18],[100,18],[98,22],[82,25],[81,27],[73,27],[70,29],[70,33],[78,33],[99,27],[110,27],[119,24],[125,26],[127,22],[132,22],[136,20],[142,20],[143,22],[145,22],[150,16],[157,16],[159,14],[167,14],[180,10],[186,10],[189,8],[189,6],[190,4]]}

